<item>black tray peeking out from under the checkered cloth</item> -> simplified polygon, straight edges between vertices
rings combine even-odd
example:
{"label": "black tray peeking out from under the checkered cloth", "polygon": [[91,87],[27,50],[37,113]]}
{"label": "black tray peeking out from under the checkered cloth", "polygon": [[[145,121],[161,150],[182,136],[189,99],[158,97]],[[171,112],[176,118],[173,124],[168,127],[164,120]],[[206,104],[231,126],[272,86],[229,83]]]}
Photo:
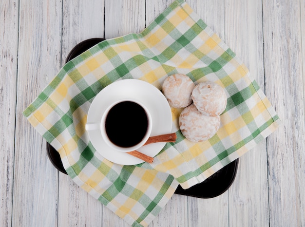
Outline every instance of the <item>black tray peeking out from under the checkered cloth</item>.
{"label": "black tray peeking out from under the checkered cloth", "polygon": [[[77,57],[81,53],[85,52],[103,40],[105,39],[90,38],[78,43],[68,54],[66,62],[72,60],[73,58]],[[51,163],[57,168],[57,170],[67,174],[62,165],[59,153],[49,143],[47,143],[47,154]],[[236,159],[221,170],[218,170],[204,182],[197,184],[189,189],[182,189],[179,185],[175,193],[205,199],[221,195],[226,190],[228,190],[233,183],[238,168],[238,162],[239,159]]]}

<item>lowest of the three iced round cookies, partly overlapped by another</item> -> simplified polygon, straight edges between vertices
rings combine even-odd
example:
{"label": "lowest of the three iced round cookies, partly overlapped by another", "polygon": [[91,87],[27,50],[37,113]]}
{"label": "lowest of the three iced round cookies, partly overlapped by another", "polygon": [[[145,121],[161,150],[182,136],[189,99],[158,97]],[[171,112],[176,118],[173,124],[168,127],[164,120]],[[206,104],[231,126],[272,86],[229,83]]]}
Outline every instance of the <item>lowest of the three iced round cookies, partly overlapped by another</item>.
{"label": "lowest of the three iced round cookies, partly overlapped by another", "polygon": [[201,114],[194,104],[186,107],[179,116],[181,133],[192,142],[210,139],[220,126],[219,116]]}

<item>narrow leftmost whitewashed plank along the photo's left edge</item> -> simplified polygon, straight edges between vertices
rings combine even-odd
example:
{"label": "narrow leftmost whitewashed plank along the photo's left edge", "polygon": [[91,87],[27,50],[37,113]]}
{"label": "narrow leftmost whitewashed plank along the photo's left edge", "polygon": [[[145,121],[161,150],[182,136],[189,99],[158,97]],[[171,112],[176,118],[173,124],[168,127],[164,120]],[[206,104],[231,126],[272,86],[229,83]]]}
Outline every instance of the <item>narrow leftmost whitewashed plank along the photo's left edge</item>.
{"label": "narrow leftmost whitewashed plank along the photo's left edge", "polygon": [[0,6],[0,226],[11,226],[18,54],[18,2]]}

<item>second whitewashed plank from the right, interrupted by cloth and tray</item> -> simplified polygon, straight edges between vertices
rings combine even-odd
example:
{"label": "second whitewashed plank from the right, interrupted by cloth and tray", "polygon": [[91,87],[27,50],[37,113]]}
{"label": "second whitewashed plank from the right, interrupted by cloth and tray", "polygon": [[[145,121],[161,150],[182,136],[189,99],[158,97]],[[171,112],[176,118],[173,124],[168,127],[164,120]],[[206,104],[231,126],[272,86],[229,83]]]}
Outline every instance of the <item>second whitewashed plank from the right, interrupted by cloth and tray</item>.
{"label": "second whitewashed plank from the right, interrupted by cloth and tray", "polygon": [[[262,4],[225,1],[225,42],[264,91]],[[266,140],[240,158],[229,189],[229,226],[268,226]]]}

